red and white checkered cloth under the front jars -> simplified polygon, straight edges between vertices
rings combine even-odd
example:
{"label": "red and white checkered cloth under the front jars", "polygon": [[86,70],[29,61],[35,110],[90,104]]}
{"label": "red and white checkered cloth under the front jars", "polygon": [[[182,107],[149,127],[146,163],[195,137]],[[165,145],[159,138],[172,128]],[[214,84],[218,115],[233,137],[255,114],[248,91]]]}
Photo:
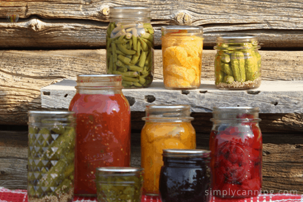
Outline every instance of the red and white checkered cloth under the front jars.
{"label": "red and white checkered cloth under the front jars", "polygon": [[[96,202],[95,197],[74,197],[74,202]],[[256,197],[240,198],[240,199],[224,199],[219,197],[212,197],[211,202],[303,202],[303,195],[301,194],[260,194]],[[10,190],[0,187],[0,202],[27,202],[26,190]],[[156,196],[142,196],[142,202],[161,202]]]}

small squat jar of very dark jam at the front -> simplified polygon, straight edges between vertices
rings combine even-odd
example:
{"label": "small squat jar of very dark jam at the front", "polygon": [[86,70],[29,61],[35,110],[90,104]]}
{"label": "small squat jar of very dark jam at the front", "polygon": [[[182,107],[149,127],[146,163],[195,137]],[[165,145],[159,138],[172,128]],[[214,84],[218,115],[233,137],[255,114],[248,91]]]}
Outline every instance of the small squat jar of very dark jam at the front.
{"label": "small squat jar of very dark jam at the front", "polygon": [[162,202],[207,202],[212,174],[210,152],[203,149],[163,149],[160,173]]}

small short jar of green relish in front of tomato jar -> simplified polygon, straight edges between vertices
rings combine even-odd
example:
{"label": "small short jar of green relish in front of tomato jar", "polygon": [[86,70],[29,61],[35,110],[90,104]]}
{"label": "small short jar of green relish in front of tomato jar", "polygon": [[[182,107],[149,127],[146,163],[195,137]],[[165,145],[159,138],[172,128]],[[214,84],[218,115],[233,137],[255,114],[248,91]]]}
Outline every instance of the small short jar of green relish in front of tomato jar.
{"label": "small short jar of green relish in front of tomato jar", "polygon": [[96,187],[98,202],[141,202],[142,183],[142,168],[96,168]]}

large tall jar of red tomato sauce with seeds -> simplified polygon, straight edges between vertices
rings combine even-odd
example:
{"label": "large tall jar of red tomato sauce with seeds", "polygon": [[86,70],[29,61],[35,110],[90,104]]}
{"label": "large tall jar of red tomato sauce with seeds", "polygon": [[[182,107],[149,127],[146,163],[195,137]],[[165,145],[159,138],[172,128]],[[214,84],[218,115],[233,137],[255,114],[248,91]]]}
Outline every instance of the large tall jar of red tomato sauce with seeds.
{"label": "large tall jar of red tomato sauce with seeds", "polygon": [[75,112],[75,194],[96,195],[97,167],[130,166],[130,107],[121,75],[78,75]]}

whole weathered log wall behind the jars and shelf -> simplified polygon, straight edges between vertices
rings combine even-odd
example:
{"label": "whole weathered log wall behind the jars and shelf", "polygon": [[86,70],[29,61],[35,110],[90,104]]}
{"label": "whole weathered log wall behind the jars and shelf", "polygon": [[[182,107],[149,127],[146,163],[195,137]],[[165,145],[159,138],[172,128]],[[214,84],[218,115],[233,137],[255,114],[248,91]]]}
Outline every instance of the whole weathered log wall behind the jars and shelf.
{"label": "whole weathered log wall behind the jars and shelf", "polygon": [[[163,78],[161,26],[196,25],[205,32],[201,79],[214,80],[217,36],[249,33],[262,46],[263,80],[303,80],[301,1],[0,0],[0,186],[26,189],[27,112],[42,110],[40,89],[78,74],[105,73],[105,36],[113,6],[151,8],[156,79]],[[8,22],[10,14],[18,14],[18,21]],[[140,166],[143,116],[132,112],[133,166]],[[207,149],[212,115],[192,116],[197,146]],[[263,189],[303,193],[302,114],[260,117]]]}

